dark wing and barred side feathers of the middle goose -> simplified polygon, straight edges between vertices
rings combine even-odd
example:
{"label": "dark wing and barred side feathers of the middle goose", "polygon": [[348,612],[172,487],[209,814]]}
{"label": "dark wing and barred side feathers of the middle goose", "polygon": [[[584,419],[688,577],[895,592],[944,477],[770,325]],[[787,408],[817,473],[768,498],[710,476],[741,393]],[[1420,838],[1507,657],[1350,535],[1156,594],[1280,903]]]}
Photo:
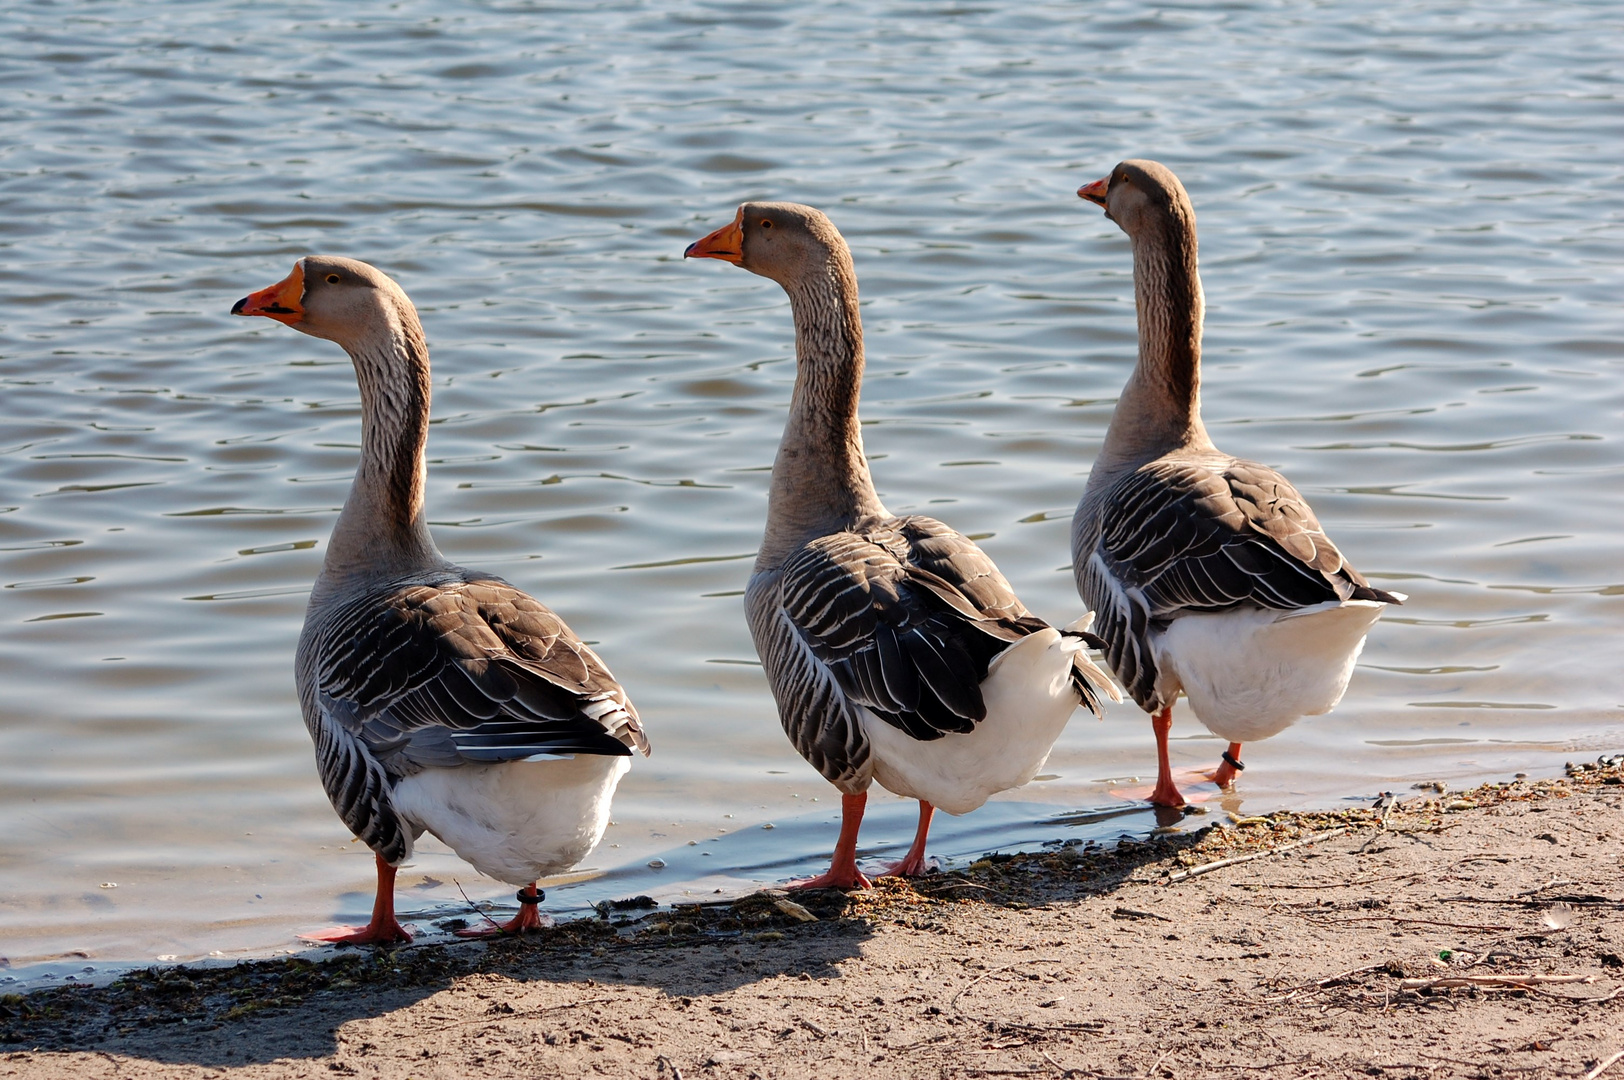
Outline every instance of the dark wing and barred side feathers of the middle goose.
{"label": "dark wing and barred side feathers of the middle goose", "polygon": [[[859,706],[919,741],[974,731],[987,666],[1047,627],[974,542],[924,516],[809,541],[757,573],[745,604],[784,732],[849,793],[870,776]],[[1085,664],[1073,680],[1098,713]]]}

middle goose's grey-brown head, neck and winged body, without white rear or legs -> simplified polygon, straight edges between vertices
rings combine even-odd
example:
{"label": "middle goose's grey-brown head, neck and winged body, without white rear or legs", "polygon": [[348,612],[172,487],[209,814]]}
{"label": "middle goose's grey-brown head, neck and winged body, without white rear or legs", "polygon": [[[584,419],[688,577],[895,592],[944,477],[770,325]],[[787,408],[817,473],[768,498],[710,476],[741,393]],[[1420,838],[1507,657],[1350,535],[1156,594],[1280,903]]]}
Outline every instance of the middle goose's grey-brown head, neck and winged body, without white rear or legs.
{"label": "middle goose's grey-brown head, neck and winged body, without white rear or legs", "polygon": [[[857,424],[857,281],[828,218],[749,203],[689,253],[742,265],[789,296],[796,387],[745,611],[789,741],[859,794],[874,770],[862,710],[921,742],[971,732],[987,716],[989,664],[1047,624],[968,538],[880,503]],[[1108,677],[1080,653],[1072,674],[1098,713]]]}

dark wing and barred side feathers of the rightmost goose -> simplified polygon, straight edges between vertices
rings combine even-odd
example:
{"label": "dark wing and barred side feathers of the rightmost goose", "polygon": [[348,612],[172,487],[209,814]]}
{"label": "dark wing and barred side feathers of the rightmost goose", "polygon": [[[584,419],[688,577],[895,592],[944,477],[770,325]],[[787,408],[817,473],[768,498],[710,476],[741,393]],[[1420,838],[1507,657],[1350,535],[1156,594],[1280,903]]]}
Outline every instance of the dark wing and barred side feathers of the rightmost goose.
{"label": "dark wing and barred side feathers of the rightmost goose", "polygon": [[1286,477],[1254,461],[1161,460],[1124,476],[1101,500],[1098,539],[1077,552],[1075,570],[1106,659],[1147,710],[1164,705],[1148,635],[1181,612],[1398,603],[1348,565]]}

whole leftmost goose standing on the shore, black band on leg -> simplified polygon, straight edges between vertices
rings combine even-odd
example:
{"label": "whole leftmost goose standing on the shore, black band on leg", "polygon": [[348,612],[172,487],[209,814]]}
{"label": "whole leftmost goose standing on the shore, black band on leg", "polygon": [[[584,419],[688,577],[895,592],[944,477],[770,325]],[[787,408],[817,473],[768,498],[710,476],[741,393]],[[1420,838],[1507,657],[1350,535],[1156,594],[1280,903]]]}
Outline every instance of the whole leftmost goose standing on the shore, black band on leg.
{"label": "whole leftmost goose standing on the shore, black band on leg", "polygon": [[[307,935],[408,942],[395,870],[430,832],[481,874],[521,885],[502,932],[542,926],[536,880],[603,838],[641,721],[559,616],[440,554],[424,520],[429,348],[395,281],[309,255],[231,309],[335,341],[361,383],[361,464],[299,635],[299,705],[322,784],[372,848],[365,927]],[[466,931],[479,935],[494,931]]]}

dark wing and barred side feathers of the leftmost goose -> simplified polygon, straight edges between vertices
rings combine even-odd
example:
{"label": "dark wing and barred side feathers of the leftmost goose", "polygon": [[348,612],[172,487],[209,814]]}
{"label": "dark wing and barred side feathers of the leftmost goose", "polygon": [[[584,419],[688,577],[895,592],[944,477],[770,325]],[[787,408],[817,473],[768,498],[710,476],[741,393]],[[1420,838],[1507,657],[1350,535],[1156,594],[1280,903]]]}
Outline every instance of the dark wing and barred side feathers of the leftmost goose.
{"label": "dark wing and barred side feathers of the leftmost goose", "polygon": [[406,849],[385,799],[400,776],[469,762],[648,754],[637,711],[598,654],[499,578],[448,572],[369,591],[307,637],[300,661],[323,786],[385,858],[383,848]]}

